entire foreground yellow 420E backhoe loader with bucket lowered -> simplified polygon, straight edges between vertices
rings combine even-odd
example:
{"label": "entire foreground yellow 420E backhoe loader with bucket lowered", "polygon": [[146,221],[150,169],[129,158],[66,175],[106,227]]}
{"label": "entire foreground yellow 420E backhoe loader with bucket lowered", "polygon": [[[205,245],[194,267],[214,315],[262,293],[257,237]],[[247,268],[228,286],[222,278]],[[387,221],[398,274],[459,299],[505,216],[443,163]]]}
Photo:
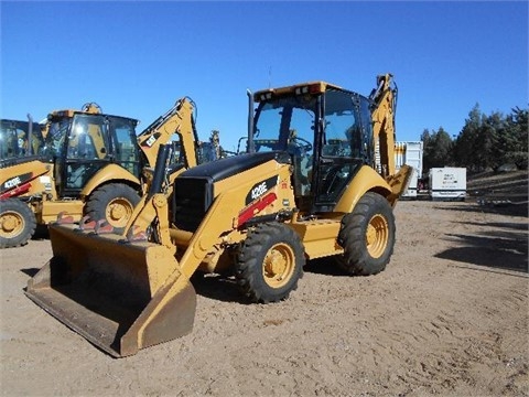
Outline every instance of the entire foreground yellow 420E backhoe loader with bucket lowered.
{"label": "entire foreground yellow 420E backhoe loader with bucket lowered", "polygon": [[369,97],[324,82],[257,92],[248,153],[168,186],[164,148],[126,230],[51,225],[53,258],[25,293],[119,357],[191,332],[196,271],[230,269],[249,300],[267,303],[289,297],[309,259],[384,270],[411,169],[395,171],[397,88],[389,74],[377,83]]}

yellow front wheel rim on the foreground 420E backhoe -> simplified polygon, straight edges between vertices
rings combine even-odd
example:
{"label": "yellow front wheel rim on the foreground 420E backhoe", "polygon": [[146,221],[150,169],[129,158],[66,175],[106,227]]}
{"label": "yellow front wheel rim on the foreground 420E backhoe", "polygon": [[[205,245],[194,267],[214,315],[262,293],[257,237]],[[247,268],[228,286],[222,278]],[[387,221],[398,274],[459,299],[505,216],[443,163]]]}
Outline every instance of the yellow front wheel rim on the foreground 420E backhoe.
{"label": "yellow front wheel rim on the foreground 420E backhoe", "polygon": [[292,278],[295,255],[287,244],[276,244],[271,247],[262,264],[264,282],[272,288],[285,286]]}

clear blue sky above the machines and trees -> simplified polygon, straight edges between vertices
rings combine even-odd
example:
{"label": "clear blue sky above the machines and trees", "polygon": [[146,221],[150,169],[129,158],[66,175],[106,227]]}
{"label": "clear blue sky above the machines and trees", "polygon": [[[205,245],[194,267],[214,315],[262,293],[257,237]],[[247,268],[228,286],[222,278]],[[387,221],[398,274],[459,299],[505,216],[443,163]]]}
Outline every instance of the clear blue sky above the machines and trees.
{"label": "clear blue sky above the machines and trees", "polygon": [[138,118],[177,98],[206,140],[235,148],[247,88],[323,79],[368,95],[399,87],[397,139],[457,135],[485,114],[527,107],[527,1],[1,1],[1,118],[35,120],[96,101]]}

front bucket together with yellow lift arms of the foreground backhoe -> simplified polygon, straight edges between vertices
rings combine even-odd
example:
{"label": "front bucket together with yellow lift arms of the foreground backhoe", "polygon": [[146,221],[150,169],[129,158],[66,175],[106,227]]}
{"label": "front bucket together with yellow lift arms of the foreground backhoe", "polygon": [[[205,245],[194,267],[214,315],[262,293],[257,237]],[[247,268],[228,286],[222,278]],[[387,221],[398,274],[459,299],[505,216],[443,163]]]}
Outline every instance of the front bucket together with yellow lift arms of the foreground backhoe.
{"label": "front bucket together with yellow lift arms of the foreground backhoe", "polygon": [[[164,168],[164,152],[162,148],[158,170]],[[290,176],[290,167],[278,167],[276,161],[260,170],[259,178],[264,180]],[[240,183],[215,197],[197,230],[188,233],[180,260],[171,243],[168,200],[155,193],[163,186],[156,178],[142,203],[144,212],[155,214],[160,222],[156,243],[82,230],[76,225],[52,225],[54,256],[29,281],[26,296],[116,357],[185,335],[193,328],[196,310],[190,278],[213,247],[241,238],[234,223],[255,185],[248,179],[250,173],[238,175]],[[284,191],[290,192],[288,187]]]}

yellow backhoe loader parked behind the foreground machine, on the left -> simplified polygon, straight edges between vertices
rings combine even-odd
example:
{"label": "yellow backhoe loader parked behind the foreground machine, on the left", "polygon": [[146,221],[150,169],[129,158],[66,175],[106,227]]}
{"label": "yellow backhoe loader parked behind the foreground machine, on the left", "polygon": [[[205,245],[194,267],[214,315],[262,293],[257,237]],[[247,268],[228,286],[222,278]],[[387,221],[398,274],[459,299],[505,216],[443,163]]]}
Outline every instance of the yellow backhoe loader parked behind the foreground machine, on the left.
{"label": "yellow backhoe loader parked behind the foreground machine, on the left", "polygon": [[174,171],[201,160],[194,110],[190,98],[179,99],[138,136],[136,119],[102,114],[93,103],[50,114],[37,155],[1,164],[0,248],[25,244],[36,224],[63,213],[75,222],[105,219],[121,232],[147,189],[160,144],[177,139]]}

